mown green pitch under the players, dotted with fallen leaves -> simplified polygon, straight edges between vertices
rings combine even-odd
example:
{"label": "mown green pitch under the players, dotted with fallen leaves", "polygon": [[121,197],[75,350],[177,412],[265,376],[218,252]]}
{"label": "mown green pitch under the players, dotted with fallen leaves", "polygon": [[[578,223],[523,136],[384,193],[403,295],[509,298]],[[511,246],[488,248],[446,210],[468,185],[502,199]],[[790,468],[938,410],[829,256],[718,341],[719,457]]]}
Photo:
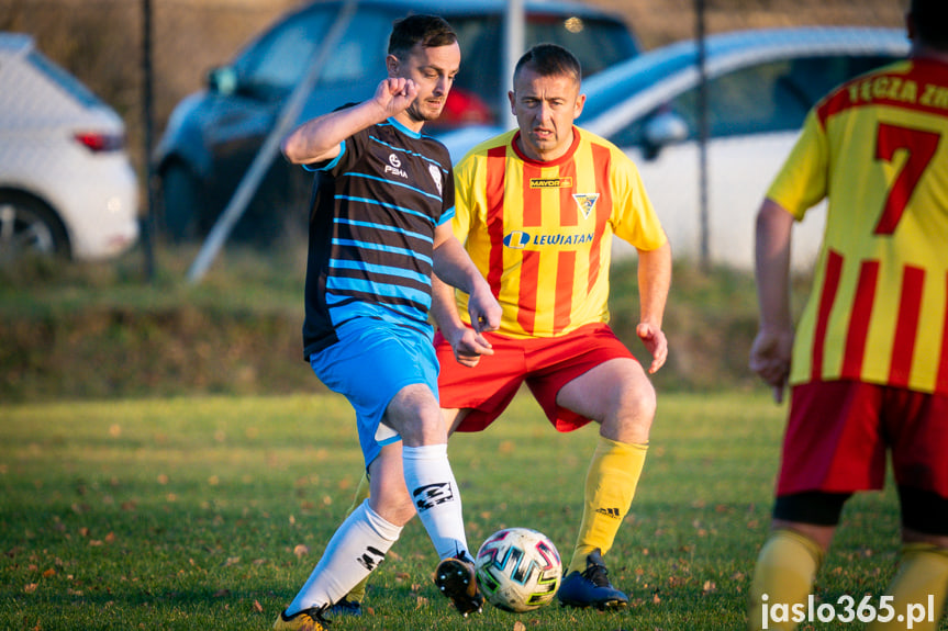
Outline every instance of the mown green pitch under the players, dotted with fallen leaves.
{"label": "mown green pitch under the players, dotted with fallen leaves", "polygon": [[[415,520],[372,578],[372,615],[333,629],[740,629],[784,413],[763,388],[660,397],[607,556],[633,599],[624,612],[489,607],[462,620],[432,585],[436,557]],[[527,526],[568,557],[594,441],[592,427],[557,435],[528,397],[489,431],[455,437],[471,547]],[[0,406],[0,628],[266,629],[319,560],[360,471],[352,413],[333,395]],[[818,576],[833,601],[878,598],[895,559],[894,494],[850,504]]]}

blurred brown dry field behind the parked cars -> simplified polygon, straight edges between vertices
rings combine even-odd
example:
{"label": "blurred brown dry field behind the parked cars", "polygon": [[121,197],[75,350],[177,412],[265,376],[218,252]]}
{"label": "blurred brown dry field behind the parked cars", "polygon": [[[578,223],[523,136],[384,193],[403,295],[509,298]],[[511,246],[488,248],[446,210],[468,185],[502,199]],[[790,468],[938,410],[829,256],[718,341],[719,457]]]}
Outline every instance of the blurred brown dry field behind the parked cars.
{"label": "blurred brown dry field behind the parked cars", "polygon": [[[175,104],[300,0],[150,0],[155,142]],[[445,0],[449,2],[450,0]],[[626,18],[646,48],[692,36],[694,0],[588,0]],[[140,170],[142,0],[0,0],[0,30],[40,48],[124,117]],[[709,33],[792,24],[902,25],[907,0],[706,0]]]}

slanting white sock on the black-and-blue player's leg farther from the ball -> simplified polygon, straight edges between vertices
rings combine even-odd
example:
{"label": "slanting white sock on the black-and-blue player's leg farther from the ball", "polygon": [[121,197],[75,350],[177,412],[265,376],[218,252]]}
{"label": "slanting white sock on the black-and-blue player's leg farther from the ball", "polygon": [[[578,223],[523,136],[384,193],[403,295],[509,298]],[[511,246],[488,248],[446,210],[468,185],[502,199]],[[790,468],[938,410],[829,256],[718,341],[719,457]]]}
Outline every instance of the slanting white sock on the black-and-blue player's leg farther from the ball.
{"label": "slanting white sock on the black-and-blue player's leg farther from the ball", "polygon": [[339,600],[382,562],[401,531],[363,502],[333,534],[287,616]]}

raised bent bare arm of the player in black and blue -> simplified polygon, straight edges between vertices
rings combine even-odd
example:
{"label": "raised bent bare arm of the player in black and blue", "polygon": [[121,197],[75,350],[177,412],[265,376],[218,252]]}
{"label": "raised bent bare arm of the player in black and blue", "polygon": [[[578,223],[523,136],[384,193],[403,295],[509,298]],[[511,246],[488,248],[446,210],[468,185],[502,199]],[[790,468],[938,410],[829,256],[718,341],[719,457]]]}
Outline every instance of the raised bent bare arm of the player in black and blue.
{"label": "raised bent bare arm of the player in black and blue", "polygon": [[353,134],[404,112],[417,97],[411,79],[382,80],[375,95],[355,105],[308,121],[290,132],[280,149],[294,165],[332,160],[339,155],[342,143]]}

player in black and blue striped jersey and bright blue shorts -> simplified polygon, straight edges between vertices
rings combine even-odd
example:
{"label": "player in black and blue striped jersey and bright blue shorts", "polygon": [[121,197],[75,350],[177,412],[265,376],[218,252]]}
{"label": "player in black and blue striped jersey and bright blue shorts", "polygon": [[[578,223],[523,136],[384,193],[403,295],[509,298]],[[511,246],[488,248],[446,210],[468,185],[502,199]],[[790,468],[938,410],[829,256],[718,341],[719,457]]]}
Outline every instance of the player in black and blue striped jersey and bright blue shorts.
{"label": "player in black and blue striped jersey and bright blue shorts", "polygon": [[440,563],[435,582],[467,613],[483,601],[447,459],[427,322],[432,272],[471,292],[471,318],[500,306],[450,230],[447,149],[424,136],[444,108],[460,50],[440,18],[395,22],[373,98],[303,123],[282,144],[317,172],[310,217],[305,359],[356,410],[371,496],[328,542],[275,629],[324,629],[325,610],[384,557],[417,512]]}

